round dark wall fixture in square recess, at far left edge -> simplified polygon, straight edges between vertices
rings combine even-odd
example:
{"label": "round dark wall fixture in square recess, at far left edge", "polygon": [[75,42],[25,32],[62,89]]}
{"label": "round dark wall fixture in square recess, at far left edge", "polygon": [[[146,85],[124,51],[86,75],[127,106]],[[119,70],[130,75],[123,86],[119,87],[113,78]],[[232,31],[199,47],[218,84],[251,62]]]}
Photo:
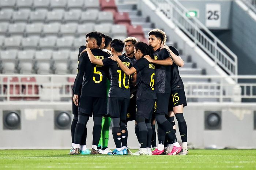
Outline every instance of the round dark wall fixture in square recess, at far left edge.
{"label": "round dark wall fixture in square recess, at far left edge", "polygon": [[9,112],[4,114],[4,129],[18,130],[20,129],[20,114]]}

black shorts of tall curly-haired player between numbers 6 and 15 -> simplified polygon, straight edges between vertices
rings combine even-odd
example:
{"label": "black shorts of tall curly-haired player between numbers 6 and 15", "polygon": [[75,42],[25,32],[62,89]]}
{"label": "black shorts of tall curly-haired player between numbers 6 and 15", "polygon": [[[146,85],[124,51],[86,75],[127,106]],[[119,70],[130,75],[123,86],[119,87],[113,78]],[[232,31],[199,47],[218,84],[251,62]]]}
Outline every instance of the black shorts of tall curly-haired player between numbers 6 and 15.
{"label": "black shorts of tall curly-haired player between numbers 6 and 15", "polygon": [[165,113],[168,114],[169,105],[169,93],[157,93],[157,108],[155,109],[155,114]]}

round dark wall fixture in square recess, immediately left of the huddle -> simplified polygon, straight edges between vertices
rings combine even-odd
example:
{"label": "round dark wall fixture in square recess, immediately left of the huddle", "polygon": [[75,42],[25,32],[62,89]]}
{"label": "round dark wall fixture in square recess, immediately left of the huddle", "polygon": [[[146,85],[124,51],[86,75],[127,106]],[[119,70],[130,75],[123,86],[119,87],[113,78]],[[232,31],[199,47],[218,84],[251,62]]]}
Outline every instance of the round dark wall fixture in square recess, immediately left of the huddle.
{"label": "round dark wall fixture in square recess, immediately left of the huddle", "polygon": [[67,112],[55,113],[55,129],[69,129],[71,125],[71,116]]}

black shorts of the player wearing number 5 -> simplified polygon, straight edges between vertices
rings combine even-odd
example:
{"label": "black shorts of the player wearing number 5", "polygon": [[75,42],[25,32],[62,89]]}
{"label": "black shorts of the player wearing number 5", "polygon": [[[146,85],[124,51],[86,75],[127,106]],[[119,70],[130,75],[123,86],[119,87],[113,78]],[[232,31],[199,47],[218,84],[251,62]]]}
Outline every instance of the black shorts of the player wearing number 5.
{"label": "black shorts of the player wearing number 5", "polygon": [[78,111],[82,114],[87,114],[89,116],[106,115],[107,110],[107,98],[99,97],[80,97]]}

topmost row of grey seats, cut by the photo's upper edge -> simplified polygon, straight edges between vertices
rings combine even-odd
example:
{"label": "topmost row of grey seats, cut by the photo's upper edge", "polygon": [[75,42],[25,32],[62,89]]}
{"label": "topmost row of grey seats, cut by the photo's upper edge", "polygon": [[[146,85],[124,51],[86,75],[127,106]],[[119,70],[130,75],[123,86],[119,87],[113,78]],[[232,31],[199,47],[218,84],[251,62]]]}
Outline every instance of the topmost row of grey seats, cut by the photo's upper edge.
{"label": "topmost row of grey seats, cut by the photo's upper edge", "polygon": [[99,8],[99,0],[0,0],[0,6],[12,9],[41,9],[47,8]]}

